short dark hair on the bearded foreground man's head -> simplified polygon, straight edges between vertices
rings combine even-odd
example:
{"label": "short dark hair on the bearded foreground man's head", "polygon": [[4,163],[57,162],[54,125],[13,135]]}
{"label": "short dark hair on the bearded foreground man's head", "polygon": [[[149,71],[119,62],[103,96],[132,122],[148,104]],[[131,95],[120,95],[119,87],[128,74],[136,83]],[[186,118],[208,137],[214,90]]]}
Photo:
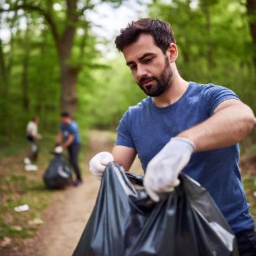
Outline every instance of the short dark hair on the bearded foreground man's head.
{"label": "short dark hair on the bearded foreground man's head", "polygon": [[136,42],[140,34],[153,36],[156,45],[164,54],[170,43],[175,43],[174,33],[170,24],[161,20],[146,18],[137,20],[137,22],[130,22],[127,28],[121,29],[121,33],[115,40],[117,49],[123,52],[123,48]]}

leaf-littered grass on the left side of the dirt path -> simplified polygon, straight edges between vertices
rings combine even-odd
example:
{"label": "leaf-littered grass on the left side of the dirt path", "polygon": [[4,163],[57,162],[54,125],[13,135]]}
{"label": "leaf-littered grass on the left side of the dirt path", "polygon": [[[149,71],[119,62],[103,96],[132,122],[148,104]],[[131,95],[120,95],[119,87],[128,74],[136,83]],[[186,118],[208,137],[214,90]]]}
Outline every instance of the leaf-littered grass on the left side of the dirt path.
{"label": "leaf-littered grass on the left side of the dirt path", "polygon": [[[54,191],[45,189],[42,176],[51,162],[51,151],[55,145],[56,135],[44,135],[40,141],[38,155],[38,171],[26,172],[23,159],[28,152],[26,139],[16,139],[0,148],[0,239],[9,237],[30,238],[34,236],[38,223],[45,214],[45,208],[51,203]],[[82,141],[87,141],[88,133],[82,135]],[[84,143],[86,144],[86,143]],[[82,148],[82,155],[86,152]],[[15,212],[14,207],[28,204],[26,212]],[[37,221],[36,221],[37,220]],[[39,220],[39,221],[38,221]],[[1,253],[0,253],[1,254]]]}

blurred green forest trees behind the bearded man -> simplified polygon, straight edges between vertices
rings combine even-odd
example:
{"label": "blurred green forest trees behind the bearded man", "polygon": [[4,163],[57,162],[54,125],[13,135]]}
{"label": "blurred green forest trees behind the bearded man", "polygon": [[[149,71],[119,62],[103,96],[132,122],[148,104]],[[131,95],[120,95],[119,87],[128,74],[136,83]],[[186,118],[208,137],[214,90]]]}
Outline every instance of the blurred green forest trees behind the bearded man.
{"label": "blurred green forest trees behind the bearded man", "polygon": [[[96,35],[88,13],[127,1],[1,1],[0,134],[2,143],[24,137],[26,123],[54,133],[68,110],[82,129],[115,129],[128,106],[145,96],[113,40]],[[236,92],[256,110],[255,0],[150,1],[147,16],[170,22],[182,77]],[[104,45],[105,55],[98,44]],[[110,56],[110,57],[109,57]],[[2,136],[3,135],[3,136]]]}

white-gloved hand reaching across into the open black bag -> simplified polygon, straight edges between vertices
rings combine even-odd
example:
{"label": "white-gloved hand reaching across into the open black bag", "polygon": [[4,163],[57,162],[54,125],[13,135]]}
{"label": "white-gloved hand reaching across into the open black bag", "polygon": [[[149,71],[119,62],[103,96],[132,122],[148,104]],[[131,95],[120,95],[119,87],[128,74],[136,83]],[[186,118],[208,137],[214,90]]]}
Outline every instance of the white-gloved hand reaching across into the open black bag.
{"label": "white-gloved hand reaching across into the open black bag", "polygon": [[160,193],[173,191],[179,185],[179,173],[194,151],[195,145],[191,140],[174,137],[152,158],[143,185],[153,201],[159,201]]}

